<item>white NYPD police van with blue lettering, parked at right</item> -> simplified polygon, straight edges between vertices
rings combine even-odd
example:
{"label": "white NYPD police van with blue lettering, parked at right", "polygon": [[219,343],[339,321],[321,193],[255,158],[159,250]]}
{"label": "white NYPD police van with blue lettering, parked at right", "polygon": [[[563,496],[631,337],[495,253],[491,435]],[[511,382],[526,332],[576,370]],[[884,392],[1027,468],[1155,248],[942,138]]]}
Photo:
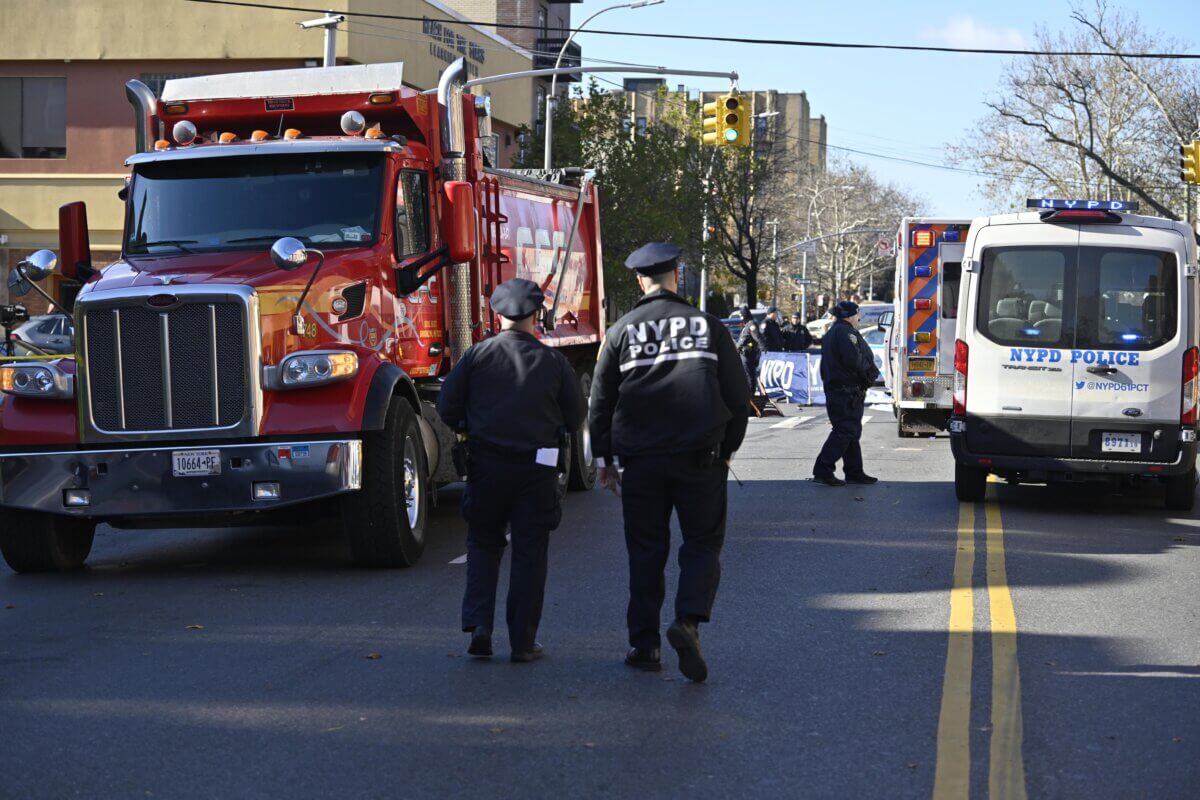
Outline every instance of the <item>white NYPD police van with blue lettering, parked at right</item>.
{"label": "white NYPD police van with blue lettering, parked at right", "polygon": [[1118,200],[971,223],[950,441],[960,500],[1010,482],[1196,485],[1196,236]]}

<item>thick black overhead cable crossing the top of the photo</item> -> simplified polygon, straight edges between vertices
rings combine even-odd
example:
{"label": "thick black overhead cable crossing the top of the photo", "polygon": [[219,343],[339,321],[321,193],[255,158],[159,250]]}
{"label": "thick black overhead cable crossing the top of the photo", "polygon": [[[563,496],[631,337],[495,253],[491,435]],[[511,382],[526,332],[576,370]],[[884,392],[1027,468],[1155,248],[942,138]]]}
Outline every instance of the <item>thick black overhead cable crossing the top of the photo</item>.
{"label": "thick black overhead cable crossing the top of the photo", "polygon": [[[244,8],[258,8],[266,11],[298,11],[311,14],[324,14],[328,10],[308,6],[287,6],[274,4],[246,2],[245,0],[187,0],[187,2],[200,2],[214,6],[240,6]],[[403,22],[424,22],[425,17],[407,14],[380,14],[350,11],[334,11],[335,14],[347,14],[349,17],[367,17],[372,19],[400,19]],[[475,28],[496,28],[508,30],[544,30],[540,25],[522,25],[518,23],[490,23],[472,19],[439,19],[448,25],[473,25]],[[1121,53],[1112,50],[1028,50],[1001,47],[936,47],[932,44],[872,44],[868,42],[822,42],[792,38],[756,38],[751,36],[701,36],[698,34],[664,34],[649,31],[626,30],[601,30],[589,28],[587,34],[598,36],[631,36],[641,38],[658,40],[683,40],[690,42],[728,42],[732,44],[770,44],[776,47],[815,47],[833,48],[844,50],[900,50],[906,53],[970,53],[976,55],[1079,55],[1097,58],[1126,58],[1126,59],[1182,59],[1200,60],[1200,53]]]}

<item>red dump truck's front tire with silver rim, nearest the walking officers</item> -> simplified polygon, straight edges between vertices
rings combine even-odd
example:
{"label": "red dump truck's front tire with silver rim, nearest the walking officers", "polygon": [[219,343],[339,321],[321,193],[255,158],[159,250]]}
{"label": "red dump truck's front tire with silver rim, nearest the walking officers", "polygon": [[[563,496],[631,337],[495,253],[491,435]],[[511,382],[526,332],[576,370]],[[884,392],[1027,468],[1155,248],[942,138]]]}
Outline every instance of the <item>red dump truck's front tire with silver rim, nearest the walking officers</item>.
{"label": "red dump truck's front tire with silver rim, nearest the walking officers", "polygon": [[342,497],[342,529],[355,564],[416,564],[425,549],[430,483],[416,413],[392,397],[383,429],[362,434],[362,488]]}

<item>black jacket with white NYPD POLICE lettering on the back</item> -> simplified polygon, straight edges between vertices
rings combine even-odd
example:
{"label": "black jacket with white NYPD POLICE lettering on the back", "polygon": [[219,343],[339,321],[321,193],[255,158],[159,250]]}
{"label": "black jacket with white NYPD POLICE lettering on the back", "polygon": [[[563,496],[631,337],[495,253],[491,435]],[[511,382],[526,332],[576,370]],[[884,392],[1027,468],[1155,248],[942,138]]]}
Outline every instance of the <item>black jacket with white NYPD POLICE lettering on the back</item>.
{"label": "black jacket with white NYPD POLICE lettering on the back", "polygon": [[592,384],[593,453],[658,456],[742,446],[750,386],[733,337],[671,291],[642,297],[608,329]]}

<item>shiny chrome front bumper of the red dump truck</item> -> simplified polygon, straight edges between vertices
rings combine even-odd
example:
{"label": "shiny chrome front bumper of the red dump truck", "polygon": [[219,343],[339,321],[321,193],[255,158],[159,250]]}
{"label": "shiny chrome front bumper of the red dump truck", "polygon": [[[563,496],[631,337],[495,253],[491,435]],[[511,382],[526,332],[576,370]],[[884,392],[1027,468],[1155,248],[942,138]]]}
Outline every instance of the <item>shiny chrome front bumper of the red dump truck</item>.
{"label": "shiny chrome front bumper of the red dump truck", "polygon": [[[176,452],[220,451],[220,474],[176,476]],[[0,452],[0,505],[94,517],[265,511],[354,492],[358,439]]]}

